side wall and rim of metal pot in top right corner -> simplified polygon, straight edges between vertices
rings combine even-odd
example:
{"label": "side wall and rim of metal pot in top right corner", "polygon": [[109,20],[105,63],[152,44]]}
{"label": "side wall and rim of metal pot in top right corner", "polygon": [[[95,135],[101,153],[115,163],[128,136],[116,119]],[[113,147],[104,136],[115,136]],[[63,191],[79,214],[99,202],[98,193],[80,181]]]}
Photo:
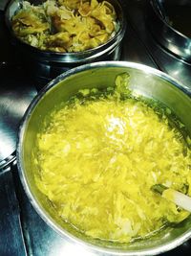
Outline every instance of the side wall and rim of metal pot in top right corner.
{"label": "side wall and rim of metal pot in top right corner", "polygon": [[[159,0],[157,0],[159,1]],[[161,16],[159,12],[159,7],[156,4],[156,0],[150,0],[149,6],[149,22],[150,30],[152,34],[156,37],[159,43],[170,51],[173,55],[183,58],[187,61],[191,61],[191,38],[186,35],[182,35],[179,31],[174,29],[166,19]],[[165,2],[169,2],[178,5],[190,5],[190,1],[180,1],[180,0],[165,0],[160,1],[161,6]]]}

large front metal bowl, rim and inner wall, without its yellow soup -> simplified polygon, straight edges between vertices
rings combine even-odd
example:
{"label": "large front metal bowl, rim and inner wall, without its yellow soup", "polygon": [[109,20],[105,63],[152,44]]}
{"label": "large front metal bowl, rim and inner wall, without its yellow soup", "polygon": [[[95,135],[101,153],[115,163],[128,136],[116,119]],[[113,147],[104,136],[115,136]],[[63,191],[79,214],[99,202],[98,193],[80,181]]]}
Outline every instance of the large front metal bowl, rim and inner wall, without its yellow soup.
{"label": "large front metal bowl, rim and inner wall, without its yellow soup", "polygon": [[67,101],[79,89],[115,85],[118,74],[128,72],[133,92],[152,98],[166,105],[179,117],[191,135],[191,92],[178,81],[153,68],[131,62],[97,62],[76,67],[51,81],[34,98],[20,127],[17,147],[17,163],[24,189],[37,213],[55,231],[74,243],[89,246],[114,255],[155,255],[170,250],[191,237],[191,218],[175,227],[168,227],[158,235],[132,244],[101,242],[81,235],[68,223],[56,218],[49,200],[36,188],[32,173],[32,150],[35,136],[41,128],[45,115],[54,105]]}

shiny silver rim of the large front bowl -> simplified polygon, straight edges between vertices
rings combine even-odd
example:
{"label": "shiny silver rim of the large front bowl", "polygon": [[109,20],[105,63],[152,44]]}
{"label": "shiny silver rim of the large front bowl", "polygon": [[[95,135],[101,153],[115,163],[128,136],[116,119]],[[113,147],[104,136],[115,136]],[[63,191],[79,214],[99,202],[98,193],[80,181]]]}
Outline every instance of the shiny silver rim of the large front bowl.
{"label": "shiny silver rim of the large front bowl", "polygon": [[16,159],[17,159],[17,168],[19,177],[21,179],[23,188],[25,190],[25,193],[27,194],[30,202],[32,203],[32,206],[34,210],[37,212],[37,214],[45,221],[49,226],[53,228],[53,230],[58,233],[62,238],[72,241],[77,244],[81,244],[85,246],[87,249],[92,249],[93,251],[101,252],[101,253],[109,253],[111,255],[124,255],[124,256],[130,256],[130,255],[157,255],[159,253],[169,251],[180,244],[183,244],[186,242],[189,238],[191,238],[191,230],[188,230],[180,235],[180,237],[175,238],[169,243],[162,244],[159,246],[154,246],[151,248],[141,249],[140,250],[119,250],[117,248],[110,248],[110,247],[101,247],[96,244],[92,244],[87,241],[83,241],[80,238],[75,237],[73,234],[71,234],[69,231],[63,229],[56,221],[53,220],[53,218],[47,213],[47,211],[44,210],[44,208],[38,203],[37,199],[34,198],[32,194],[32,190],[30,189],[30,184],[27,179],[27,175],[24,171],[24,166],[22,162],[22,142],[25,134],[25,128],[31,118],[32,111],[34,110],[35,106],[38,104],[38,102],[43,99],[43,97],[48,93],[53,86],[56,86],[59,84],[60,81],[63,81],[67,79],[68,77],[73,76],[74,74],[84,72],[86,70],[95,69],[95,68],[107,68],[107,67],[127,67],[132,69],[137,69],[140,71],[145,72],[145,74],[152,74],[154,76],[157,76],[161,79],[164,79],[166,81],[169,81],[172,86],[176,86],[180,92],[185,94],[190,99],[191,96],[191,89],[189,87],[186,87],[180,81],[177,81],[170,77],[169,75],[155,69],[152,67],[149,67],[144,64],[139,64],[136,62],[129,62],[129,61],[99,61],[91,64],[84,64],[78,67],[75,67],[61,75],[59,75],[57,78],[55,78],[53,81],[50,81],[44,88],[40,90],[40,92],[33,98],[31,105],[29,105],[27,111],[24,114],[24,117],[22,119],[22,122],[20,124],[18,137],[17,137],[17,148],[16,148]]}

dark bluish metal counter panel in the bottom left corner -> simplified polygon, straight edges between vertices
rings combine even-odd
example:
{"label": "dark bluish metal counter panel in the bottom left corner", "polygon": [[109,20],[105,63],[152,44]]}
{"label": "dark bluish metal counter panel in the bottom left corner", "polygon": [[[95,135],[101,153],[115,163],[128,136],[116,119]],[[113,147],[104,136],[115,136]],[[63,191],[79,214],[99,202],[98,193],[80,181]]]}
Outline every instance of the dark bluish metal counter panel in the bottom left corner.
{"label": "dark bluish metal counter panel in the bottom left corner", "polygon": [[4,170],[3,174],[0,173],[0,209],[0,255],[25,256],[26,247],[22,236],[20,210],[9,169]]}

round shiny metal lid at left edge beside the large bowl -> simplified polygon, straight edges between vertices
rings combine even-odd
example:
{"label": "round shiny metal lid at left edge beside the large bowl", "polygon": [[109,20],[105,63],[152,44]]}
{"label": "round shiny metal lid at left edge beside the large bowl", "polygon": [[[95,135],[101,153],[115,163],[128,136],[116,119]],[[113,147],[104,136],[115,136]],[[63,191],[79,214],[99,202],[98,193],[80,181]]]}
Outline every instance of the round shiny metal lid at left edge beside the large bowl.
{"label": "round shiny metal lid at left edge beside the large bowl", "polygon": [[32,81],[20,67],[0,64],[0,169],[15,158],[20,121],[36,94]]}

